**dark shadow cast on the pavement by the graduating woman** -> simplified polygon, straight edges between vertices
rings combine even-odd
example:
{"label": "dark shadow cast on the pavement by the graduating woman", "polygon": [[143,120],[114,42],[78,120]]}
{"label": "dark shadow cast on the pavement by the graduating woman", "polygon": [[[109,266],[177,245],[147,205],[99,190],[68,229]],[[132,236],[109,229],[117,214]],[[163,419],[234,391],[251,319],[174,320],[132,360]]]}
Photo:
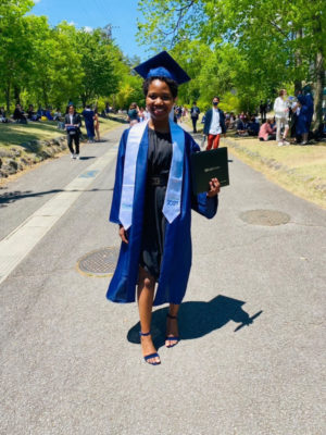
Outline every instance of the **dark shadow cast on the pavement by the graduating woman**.
{"label": "dark shadow cast on the pavement by the graduating woman", "polygon": [[[242,310],[246,302],[223,295],[216,296],[209,302],[191,301],[181,303],[178,319],[181,339],[195,339],[203,337],[211,332],[226,325],[229,321],[239,323],[235,332],[253,323],[263,311],[253,316]],[[164,345],[165,323],[167,307],[153,312],[152,335],[155,346]],[[127,334],[130,343],[139,344],[140,323],[134,325]]]}

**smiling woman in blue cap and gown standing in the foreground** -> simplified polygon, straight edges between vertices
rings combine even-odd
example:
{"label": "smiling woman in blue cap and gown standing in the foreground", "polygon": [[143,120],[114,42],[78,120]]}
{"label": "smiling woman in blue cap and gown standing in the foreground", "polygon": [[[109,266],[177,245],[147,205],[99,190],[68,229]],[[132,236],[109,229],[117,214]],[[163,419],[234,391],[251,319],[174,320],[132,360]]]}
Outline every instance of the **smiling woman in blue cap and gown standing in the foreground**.
{"label": "smiling woman in blue cap and gown standing in the foreground", "polygon": [[122,245],[106,297],[134,302],[138,285],[142,356],[155,365],[161,360],[151,337],[152,307],[170,304],[165,346],[175,346],[191,266],[191,209],[212,219],[220,183],[212,178],[208,192],[192,194],[190,156],[200,149],[170,120],[178,84],[188,75],[165,51],[135,70],[145,78],[150,119],[125,130],[120,142],[110,221],[120,225]]}

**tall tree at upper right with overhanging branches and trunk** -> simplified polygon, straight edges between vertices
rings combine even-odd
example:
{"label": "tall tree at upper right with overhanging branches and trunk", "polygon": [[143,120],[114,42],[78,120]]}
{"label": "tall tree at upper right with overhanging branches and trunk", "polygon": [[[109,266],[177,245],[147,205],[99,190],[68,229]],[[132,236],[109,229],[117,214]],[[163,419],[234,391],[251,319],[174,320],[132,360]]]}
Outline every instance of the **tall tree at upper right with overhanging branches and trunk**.
{"label": "tall tree at upper right with overhanging branches and trunk", "polygon": [[267,90],[272,96],[285,83],[299,87],[302,80],[312,80],[315,127],[321,123],[325,1],[142,0],[140,8],[145,21],[139,23],[138,38],[142,41],[163,48],[186,46],[187,38],[197,38],[214,51],[233,45],[242,59],[240,65],[247,64],[247,70],[242,70],[242,88],[253,88],[261,95]]}

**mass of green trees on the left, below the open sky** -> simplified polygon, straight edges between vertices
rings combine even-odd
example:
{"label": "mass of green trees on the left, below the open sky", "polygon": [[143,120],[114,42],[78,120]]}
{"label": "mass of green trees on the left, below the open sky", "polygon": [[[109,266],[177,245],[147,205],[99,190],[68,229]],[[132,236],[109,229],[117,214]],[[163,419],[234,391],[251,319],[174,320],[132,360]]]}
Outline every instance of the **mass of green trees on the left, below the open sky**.
{"label": "mass of green trees on the left, below the open sky", "polygon": [[[30,14],[30,0],[0,3],[0,103],[64,108],[110,99],[126,108],[142,100],[131,74],[136,59],[123,55],[101,28],[89,32],[66,22],[51,27]],[[137,98],[136,98],[137,97]]]}

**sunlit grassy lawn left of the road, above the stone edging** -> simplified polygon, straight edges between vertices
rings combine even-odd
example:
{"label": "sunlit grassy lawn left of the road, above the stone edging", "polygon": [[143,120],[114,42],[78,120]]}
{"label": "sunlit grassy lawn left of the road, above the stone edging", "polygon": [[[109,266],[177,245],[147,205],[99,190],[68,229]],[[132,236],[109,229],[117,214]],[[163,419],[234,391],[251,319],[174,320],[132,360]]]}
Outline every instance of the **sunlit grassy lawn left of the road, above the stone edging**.
{"label": "sunlit grassy lawn left of the road, above the stone edging", "polygon": [[[0,147],[20,146],[29,140],[50,140],[64,136],[65,132],[57,127],[57,122],[39,121],[28,124],[2,124],[0,123]],[[120,125],[117,122],[100,117],[100,134]],[[82,132],[86,135],[85,127]]]}

